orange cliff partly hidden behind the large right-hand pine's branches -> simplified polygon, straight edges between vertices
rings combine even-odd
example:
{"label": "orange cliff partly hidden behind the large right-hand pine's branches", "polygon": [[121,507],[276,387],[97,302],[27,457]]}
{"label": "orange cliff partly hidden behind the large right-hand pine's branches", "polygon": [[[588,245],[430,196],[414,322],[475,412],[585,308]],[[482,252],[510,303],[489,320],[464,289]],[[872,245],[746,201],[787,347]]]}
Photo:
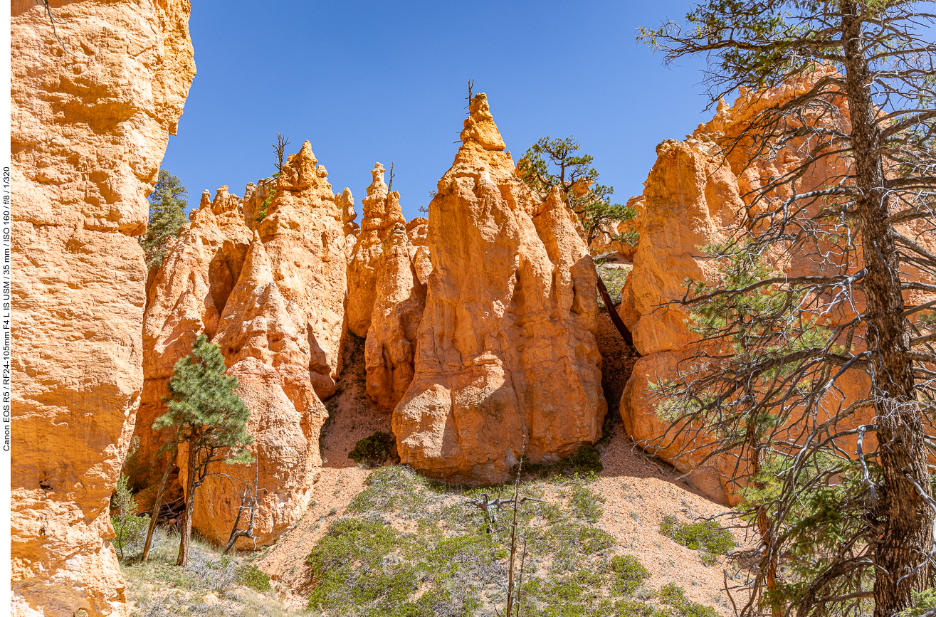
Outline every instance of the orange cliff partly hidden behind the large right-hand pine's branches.
{"label": "orange cliff partly hidden behind the large right-hand pine's branches", "polygon": [[[695,441],[693,448],[698,449],[694,452],[682,453],[688,449],[686,444],[665,436],[668,425],[655,411],[650,384],[687,370],[682,360],[695,351],[699,340],[689,331],[686,311],[678,305],[661,305],[683,297],[687,278],[709,283],[717,280],[714,264],[701,257],[700,247],[724,241],[731,228],[748,220],[753,207],[748,194],[753,188],[802,162],[800,144],[795,142],[787,144],[768,163],[753,166],[745,165],[746,148],[734,150],[725,159],[720,144],[734,140],[759,111],[781,104],[809,87],[808,81],[794,81],[758,95],[742,92],[730,108],[720,104],[715,117],[700,125],[692,136],[682,141],[665,140],[657,146],[656,164],[644,184],[644,215],[634,270],[622,290],[619,308],[642,357],[636,361],[622,394],[621,415],[627,433],[639,445],[689,472],[690,480],[700,490],[722,503],[737,502],[733,478],[743,475],[745,463],[740,462],[739,472],[737,457],[726,454],[700,465],[708,453],[700,448],[704,441]],[[842,116],[847,118],[847,110],[842,110]],[[829,158],[824,165],[813,166],[800,179],[798,188],[808,191],[821,187],[845,170],[846,162]],[[810,255],[777,254],[773,259],[774,266],[790,276],[820,273],[818,261]],[[845,318],[850,315],[823,316],[831,324]],[[866,375],[853,371],[843,375],[837,386],[841,392],[826,395],[827,409],[836,409],[842,398],[855,400],[869,384]]]}

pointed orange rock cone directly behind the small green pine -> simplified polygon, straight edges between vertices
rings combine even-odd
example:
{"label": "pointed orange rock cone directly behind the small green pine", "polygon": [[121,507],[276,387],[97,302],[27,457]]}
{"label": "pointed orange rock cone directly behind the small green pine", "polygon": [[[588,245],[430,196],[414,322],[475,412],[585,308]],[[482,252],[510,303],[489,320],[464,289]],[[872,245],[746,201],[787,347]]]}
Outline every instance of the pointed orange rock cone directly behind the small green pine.
{"label": "pointed orange rock cone directly behind the small green pine", "polygon": [[[240,549],[273,543],[309,503],[321,467],[318,436],[328,412],[310,378],[309,346],[314,339],[307,325],[300,305],[277,284],[255,231],[212,343],[221,348],[228,375],[241,382],[239,393],[251,411],[247,433],[254,436],[256,463],[225,464],[218,471],[226,477],[208,477],[198,488],[193,525],[216,543],[227,543],[241,494],[245,489],[253,492],[255,484],[256,545],[241,538]],[[184,478],[184,452],[177,461]],[[245,528],[246,519],[242,521]]]}

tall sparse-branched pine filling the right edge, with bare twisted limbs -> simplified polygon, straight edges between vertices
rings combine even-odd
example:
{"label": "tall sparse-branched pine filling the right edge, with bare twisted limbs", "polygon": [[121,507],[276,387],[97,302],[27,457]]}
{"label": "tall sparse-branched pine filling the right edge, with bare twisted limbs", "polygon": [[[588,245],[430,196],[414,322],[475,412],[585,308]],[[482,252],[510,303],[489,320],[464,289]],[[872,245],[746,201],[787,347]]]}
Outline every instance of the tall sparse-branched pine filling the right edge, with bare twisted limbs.
{"label": "tall sparse-branched pine filling the right edge, with bare twisted limbs", "polygon": [[[741,615],[867,615],[873,602],[875,617],[894,617],[936,573],[925,318],[936,305],[936,15],[906,0],[709,0],[686,21],[639,38],[668,62],[705,55],[712,105],[741,88],[756,101],[801,87],[721,144],[736,175],[798,151],[745,196],[729,240],[700,249],[721,276],[681,301],[705,345],[658,386],[667,440],[704,428],[710,455],[749,470],[743,514],[760,546],[742,551]],[[808,184],[816,166],[834,177]],[[783,254],[816,274],[775,269]],[[856,373],[870,387],[844,400],[841,379]]]}

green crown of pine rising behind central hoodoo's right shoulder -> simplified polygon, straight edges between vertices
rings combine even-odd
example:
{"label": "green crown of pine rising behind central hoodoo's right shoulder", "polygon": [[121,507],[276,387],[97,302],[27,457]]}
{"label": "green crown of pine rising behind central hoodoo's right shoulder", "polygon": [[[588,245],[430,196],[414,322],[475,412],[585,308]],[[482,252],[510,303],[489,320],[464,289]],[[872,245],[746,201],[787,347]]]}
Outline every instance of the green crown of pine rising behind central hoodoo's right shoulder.
{"label": "green crown of pine rising behind central hoodoo's right shoulder", "polygon": [[582,224],[585,231],[582,240],[586,244],[591,245],[598,234],[607,233],[612,240],[636,245],[636,232],[619,235],[611,228],[612,223],[634,218],[636,210],[632,206],[611,203],[614,187],[597,184],[598,170],[592,167],[594,159],[590,154],[574,155],[579,149],[578,141],[572,137],[540,138],[520,159],[517,165],[520,178],[543,195],[558,186]]}

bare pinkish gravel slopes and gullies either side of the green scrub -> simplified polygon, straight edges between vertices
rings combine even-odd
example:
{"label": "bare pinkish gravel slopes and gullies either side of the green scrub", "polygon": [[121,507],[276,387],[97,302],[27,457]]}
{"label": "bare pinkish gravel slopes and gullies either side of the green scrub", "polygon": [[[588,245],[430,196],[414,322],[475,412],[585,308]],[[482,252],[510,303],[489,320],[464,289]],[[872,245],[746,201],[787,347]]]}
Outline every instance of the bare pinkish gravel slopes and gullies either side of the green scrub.
{"label": "bare pinkish gravel slopes and gullies either side of the green scrub", "polygon": [[[598,524],[617,539],[623,553],[633,554],[650,570],[652,588],[675,582],[693,601],[731,615],[724,593],[724,559],[705,566],[698,551],[659,532],[665,515],[691,521],[720,514],[725,507],[709,501],[675,469],[646,455],[627,438],[618,401],[636,356],[625,348],[607,313],[599,315],[597,338],[609,408],[605,437],[597,445],[605,469],[590,487],[607,499]],[[324,463],[315,482],[314,502],[293,529],[256,562],[271,575],[285,603],[297,609],[305,606],[309,591],[306,556],[329,523],[342,516],[370,474],[348,459],[347,452],[374,431],[390,430],[390,415],[374,407],[364,393],[362,349],[358,347],[362,345],[352,341],[345,349],[341,391],[327,403],[329,421],[321,439]],[[740,542],[743,536],[738,534],[737,539]]]}

